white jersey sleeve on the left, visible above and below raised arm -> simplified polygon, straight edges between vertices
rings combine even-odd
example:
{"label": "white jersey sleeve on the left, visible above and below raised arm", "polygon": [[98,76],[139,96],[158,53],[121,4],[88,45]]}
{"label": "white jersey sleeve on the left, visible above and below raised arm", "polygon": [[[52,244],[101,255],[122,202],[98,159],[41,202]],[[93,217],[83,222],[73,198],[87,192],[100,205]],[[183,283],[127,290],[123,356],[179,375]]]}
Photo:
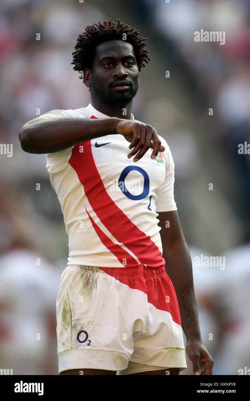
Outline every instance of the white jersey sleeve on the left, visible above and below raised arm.
{"label": "white jersey sleeve on the left, visible above and below raised arm", "polygon": [[[38,118],[58,118],[58,117],[73,117],[72,114],[70,113],[71,110],[60,110],[60,109],[55,109],[52,111],[48,111],[47,113],[44,113],[40,115]],[[68,149],[61,150],[60,152],[56,153],[47,153],[46,160],[46,169],[50,174],[57,174],[59,172],[62,172],[64,168],[66,168],[68,161],[70,160],[71,156],[71,151],[74,148],[74,146],[71,146]]]}

